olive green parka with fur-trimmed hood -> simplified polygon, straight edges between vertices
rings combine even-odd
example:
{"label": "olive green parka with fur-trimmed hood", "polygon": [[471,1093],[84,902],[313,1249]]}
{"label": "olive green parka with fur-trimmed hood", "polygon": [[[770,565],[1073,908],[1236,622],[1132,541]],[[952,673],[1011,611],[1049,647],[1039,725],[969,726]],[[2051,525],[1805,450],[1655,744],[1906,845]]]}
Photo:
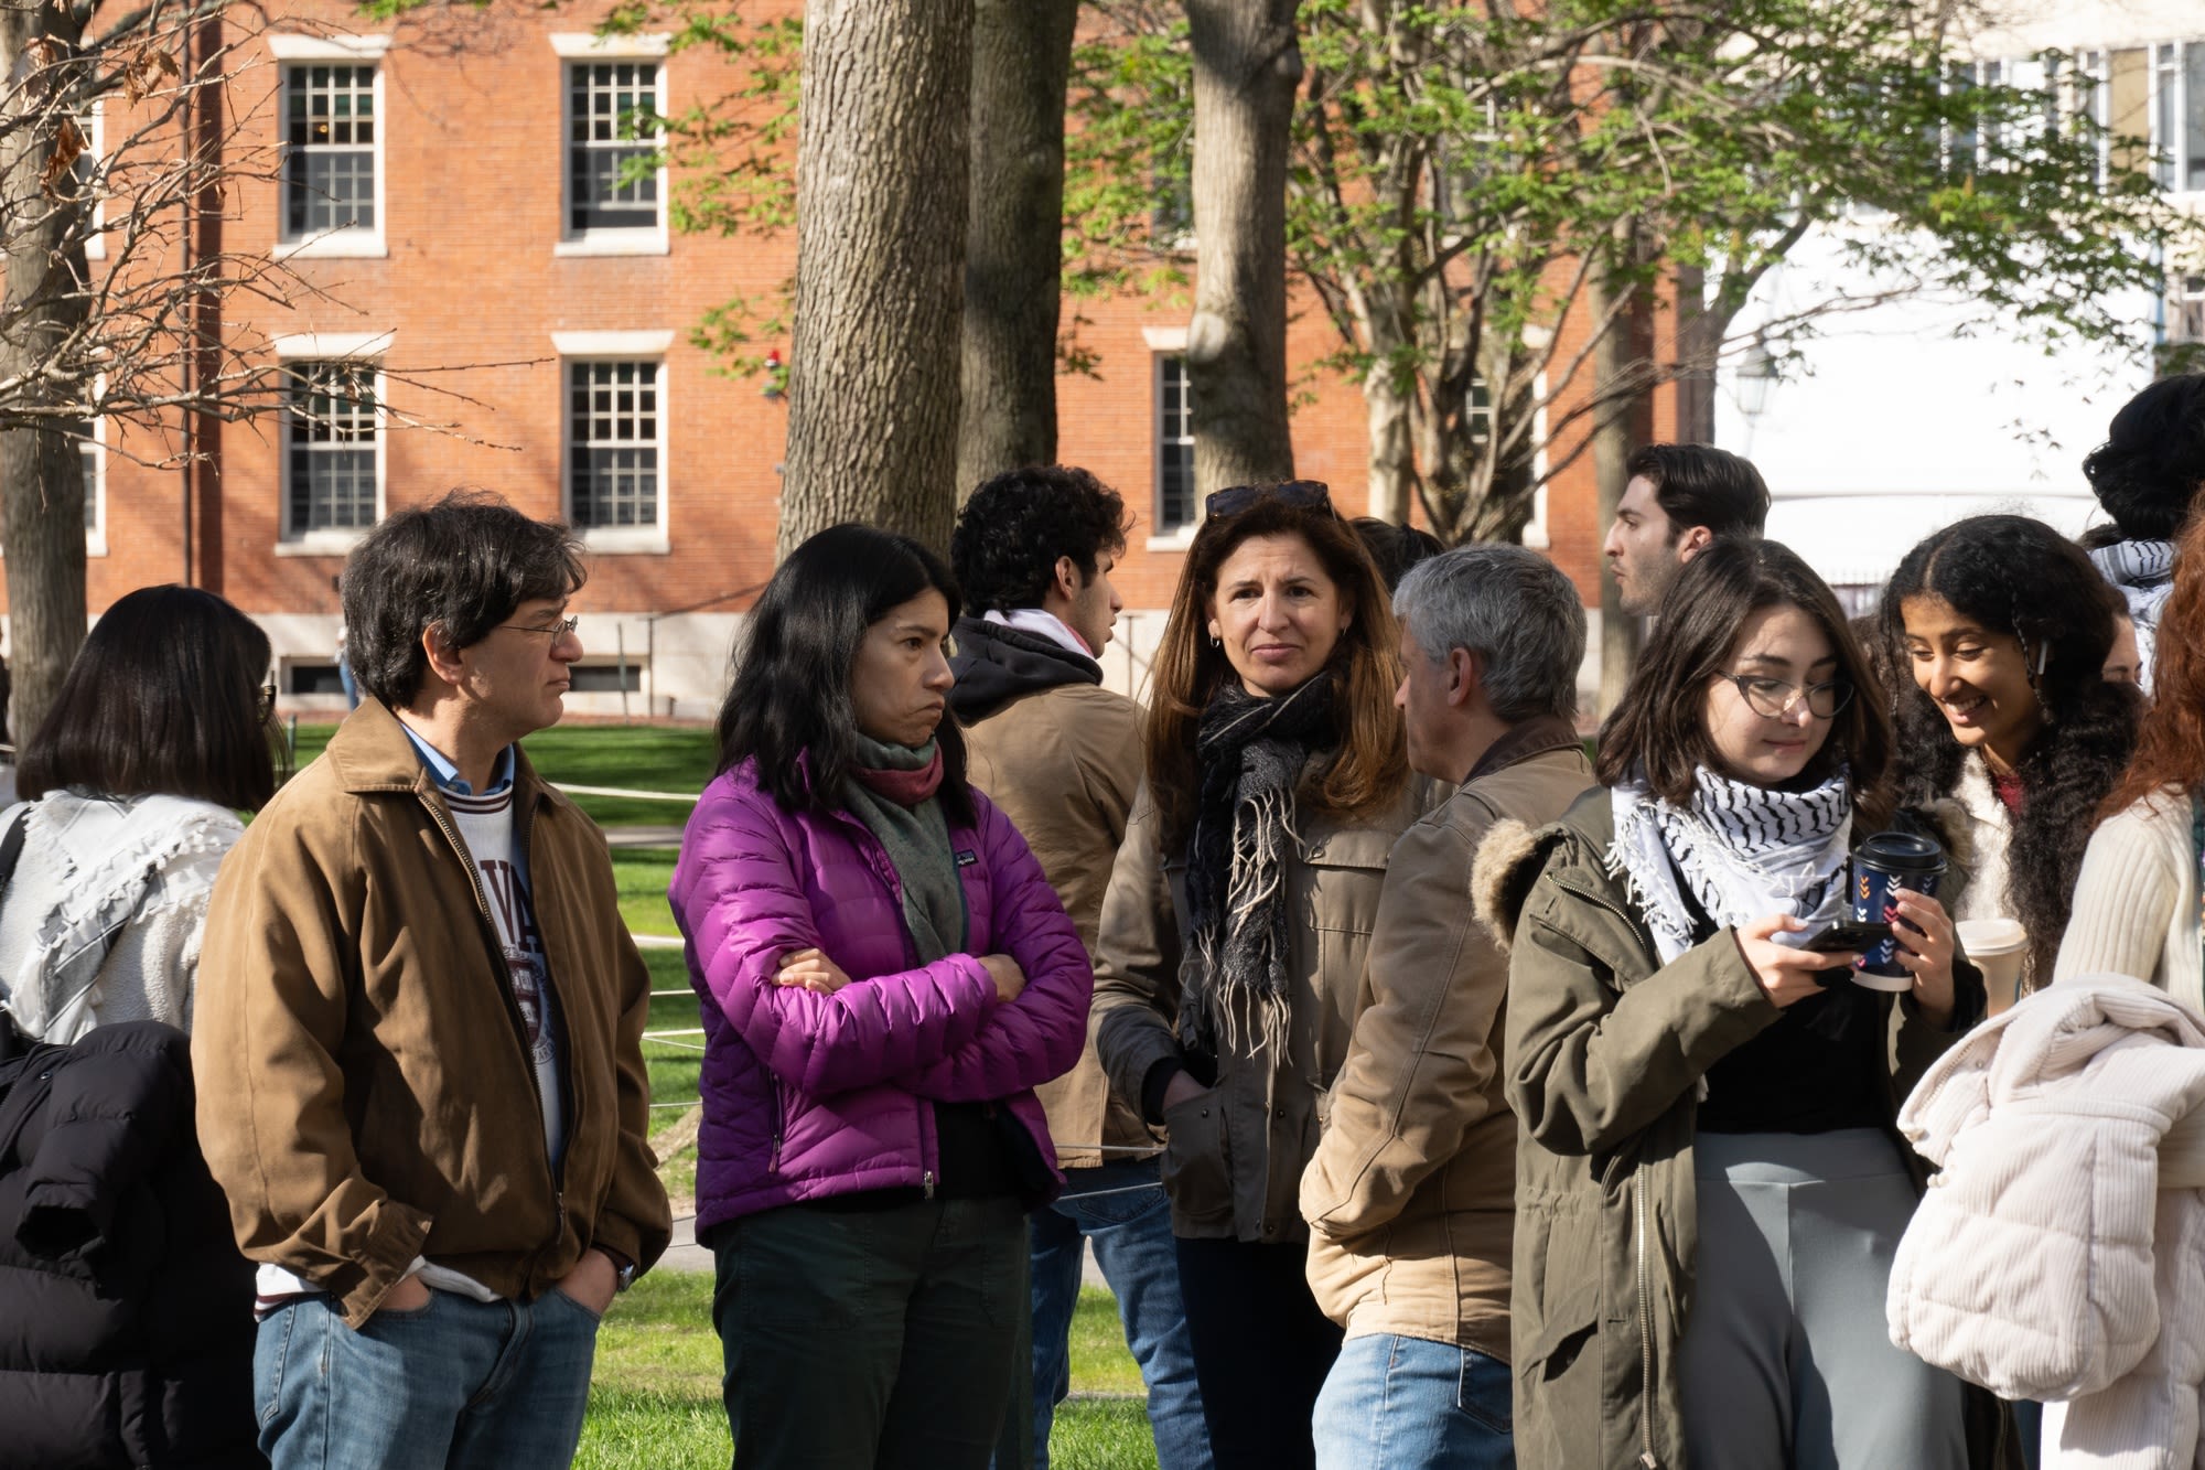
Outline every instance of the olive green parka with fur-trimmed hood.
{"label": "olive green parka with fur-trimmed hood", "polygon": [[[1680,1470],[1678,1346],[1698,1251],[1693,1137],[1707,1068],[1777,1006],[1731,929],[1663,965],[1605,854],[1610,792],[1477,854],[1480,918],[1508,949],[1517,1115],[1515,1452],[1524,1470]],[[1982,1013],[1954,967],[1954,1029],[1892,998],[1887,1115]],[[1921,1161],[1899,1141],[1921,1183]],[[1973,1439],[1973,1435],[1971,1435]]]}

